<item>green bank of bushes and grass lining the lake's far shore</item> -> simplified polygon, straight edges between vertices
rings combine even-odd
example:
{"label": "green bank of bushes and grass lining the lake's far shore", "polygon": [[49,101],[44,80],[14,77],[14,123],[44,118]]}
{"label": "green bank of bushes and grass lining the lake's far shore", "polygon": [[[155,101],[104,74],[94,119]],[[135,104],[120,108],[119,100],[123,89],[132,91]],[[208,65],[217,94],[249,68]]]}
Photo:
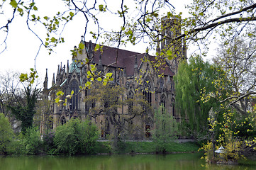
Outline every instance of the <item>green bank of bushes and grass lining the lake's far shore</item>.
{"label": "green bank of bushes and grass lining the lake's far shore", "polygon": [[18,136],[9,121],[0,115],[0,154],[126,154],[197,152],[196,142],[99,141],[99,131],[89,120],[70,120],[55,132],[40,136],[38,128],[28,128]]}

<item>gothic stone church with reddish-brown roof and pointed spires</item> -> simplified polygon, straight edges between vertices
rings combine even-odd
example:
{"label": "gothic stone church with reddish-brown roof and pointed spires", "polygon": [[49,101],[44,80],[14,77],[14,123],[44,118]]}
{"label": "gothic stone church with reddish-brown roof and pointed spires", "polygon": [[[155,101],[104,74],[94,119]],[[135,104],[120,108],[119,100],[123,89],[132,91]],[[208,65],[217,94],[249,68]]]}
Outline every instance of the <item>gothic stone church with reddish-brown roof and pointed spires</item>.
{"label": "gothic stone church with reddish-brown roof and pointed spires", "polygon": [[[174,19],[169,19],[168,23],[173,24]],[[173,26],[172,26],[173,27]],[[176,29],[177,34],[181,33],[179,27]],[[173,33],[166,30],[163,35],[173,36]],[[160,105],[165,106],[167,113],[174,118],[179,119],[179,115],[175,114],[175,95],[174,95],[174,74],[177,73],[177,66],[179,60],[187,59],[187,48],[184,42],[179,43],[179,47],[173,47],[173,52],[177,57],[173,60],[166,60],[165,58],[148,55],[148,53],[131,52],[128,50],[121,50],[115,47],[103,46],[102,50],[94,51],[96,46],[91,41],[86,42],[81,40],[84,44],[82,52],[77,53],[76,57],[72,58],[72,62],[67,61],[67,65],[60,64],[57,68],[57,74],[53,74],[52,86],[48,87],[48,73],[46,71],[43,97],[45,100],[54,101],[56,92],[61,90],[67,96],[74,91],[75,96],[72,96],[67,101],[67,105],[51,102],[48,109],[45,110],[43,121],[41,121],[41,132],[48,129],[55,129],[57,125],[63,125],[72,118],[81,118],[82,120],[88,118],[89,111],[95,107],[97,103],[88,103],[84,101],[89,95],[89,89],[80,91],[79,87],[84,86],[88,81],[87,67],[81,67],[81,61],[88,59],[90,64],[96,65],[97,71],[111,72],[113,80],[109,83],[118,86],[123,86],[125,92],[123,98],[133,98],[138,91],[143,91],[145,100],[148,101],[153,109]],[[161,52],[166,45],[167,40],[162,40],[157,45],[157,52]],[[160,59],[160,60],[159,60]],[[88,61],[87,60],[87,61]],[[77,62],[77,61],[80,61]],[[158,64],[157,69],[154,63]],[[139,82],[138,79],[141,81]],[[145,90],[147,89],[147,90]],[[79,93],[78,93],[79,92]],[[64,99],[65,100],[65,99]],[[128,107],[118,109],[118,114],[128,114]],[[46,116],[47,115],[47,116]],[[150,130],[153,129],[153,118],[144,118],[135,120],[134,122],[140,125],[140,137],[134,135],[133,139],[145,139],[150,137]],[[152,117],[152,116],[151,116]],[[101,137],[109,135],[111,125],[108,118],[104,115],[99,115],[93,120],[101,131]],[[47,124],[47,125],[46,125]]]}

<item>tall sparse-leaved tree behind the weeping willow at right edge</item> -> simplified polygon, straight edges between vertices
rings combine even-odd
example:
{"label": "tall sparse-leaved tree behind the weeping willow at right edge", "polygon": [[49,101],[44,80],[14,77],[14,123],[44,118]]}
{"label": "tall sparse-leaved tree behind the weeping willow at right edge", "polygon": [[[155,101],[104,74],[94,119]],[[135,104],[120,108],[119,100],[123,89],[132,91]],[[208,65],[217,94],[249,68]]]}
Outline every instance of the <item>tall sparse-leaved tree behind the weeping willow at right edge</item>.
{"label": "tall sparse-leaved tree behind the weeping willow at right edge", "polygon": [[228,45],[221,45],[213,61],[221,66],[230,81],[232,93],[223,100],[244,118],[252,112],[256,94],[256,46],[252,38],[235,38]]}

